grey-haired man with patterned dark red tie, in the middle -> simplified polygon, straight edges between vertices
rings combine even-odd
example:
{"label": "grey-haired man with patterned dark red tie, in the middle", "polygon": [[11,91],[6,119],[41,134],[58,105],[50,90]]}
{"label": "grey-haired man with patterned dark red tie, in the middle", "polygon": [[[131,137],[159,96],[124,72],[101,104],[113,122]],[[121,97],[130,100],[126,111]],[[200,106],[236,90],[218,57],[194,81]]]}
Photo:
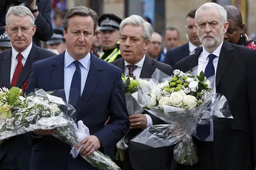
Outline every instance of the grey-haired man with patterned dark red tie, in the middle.
{"label": "grey-haired man with patterned dark red tie, in the middle", "polygon": [[[122,58],[112,62],[121,68],[125,76],[151,78],[157,69],[171,75],[171,66],[157,62],[146,55],[150,46],[153,29],[150,23],[138,15],[131,15],[120,24],[120,52]],[[129,115],[130,131],[126,136],[128,149],[125,150],[125,160],[117,161],[122,170],[156,170],[166,169],[165,149],[134,150],[130,140],[152,124],[163,124],[163,122],[147,111],[141,114]]]}

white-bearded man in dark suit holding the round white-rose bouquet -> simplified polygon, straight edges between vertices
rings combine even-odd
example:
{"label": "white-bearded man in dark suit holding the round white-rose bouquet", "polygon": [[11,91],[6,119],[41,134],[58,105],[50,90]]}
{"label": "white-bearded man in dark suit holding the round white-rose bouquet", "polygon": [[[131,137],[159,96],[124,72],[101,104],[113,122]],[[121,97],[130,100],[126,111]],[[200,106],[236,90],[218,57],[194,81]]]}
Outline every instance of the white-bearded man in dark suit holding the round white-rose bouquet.
{"label": "white-bearded man in dark suit holding the round white-rose bouquet", "polygon": [[[216,118],[194,132],[198,163],[177,165],[177,170],[254,170],[256,162],[256,51],[224,40],[227,12],[205,3],[196,12],[197,32],[203,47],[175,65],[215,77],[213,92],[227,98],[233,119]],[[214,146],[214,147],[213,147]]]}

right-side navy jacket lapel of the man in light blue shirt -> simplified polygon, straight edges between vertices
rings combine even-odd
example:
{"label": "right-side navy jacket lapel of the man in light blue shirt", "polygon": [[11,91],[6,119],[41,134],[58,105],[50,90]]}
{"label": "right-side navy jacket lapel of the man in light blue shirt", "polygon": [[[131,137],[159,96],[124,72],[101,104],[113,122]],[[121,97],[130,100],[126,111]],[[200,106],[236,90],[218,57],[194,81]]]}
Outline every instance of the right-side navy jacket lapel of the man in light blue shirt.
{"label": "right-side navy jacket lapel of the man in light blue shirt", "polygon": [[76,105],[76,115],[80,114],[90,99],[91,95],[93,94],[94,90],[96,89],[98,83],[100,82],[103,69],[100,65],[100,62],[97,60],[99,60],[99,58],[91,53],[91,65],[87,75],[83,94]]}

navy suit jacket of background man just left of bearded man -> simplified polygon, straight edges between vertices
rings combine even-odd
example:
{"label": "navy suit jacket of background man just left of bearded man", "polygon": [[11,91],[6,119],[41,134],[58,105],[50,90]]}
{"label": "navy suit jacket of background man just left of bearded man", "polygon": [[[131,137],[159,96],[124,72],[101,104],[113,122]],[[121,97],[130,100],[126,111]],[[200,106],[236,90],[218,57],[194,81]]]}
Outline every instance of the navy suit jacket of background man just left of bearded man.
{"label": "navy suit jacket of background man just left of bearded man", "polygon": [[165,54],[165,62],[164,63],[169,64],[170,66],[174,67],[177,62],[179,62],[186,56],[189,56],[188,43],[184,44],[180,47],[168,50]]}

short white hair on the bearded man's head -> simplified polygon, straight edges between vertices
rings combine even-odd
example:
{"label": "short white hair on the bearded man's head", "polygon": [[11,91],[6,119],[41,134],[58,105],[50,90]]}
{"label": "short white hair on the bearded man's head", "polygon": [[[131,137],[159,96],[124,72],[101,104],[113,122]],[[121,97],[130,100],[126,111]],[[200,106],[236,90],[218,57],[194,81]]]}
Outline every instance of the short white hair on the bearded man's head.
{"label": "short white hair on the bearded man's head", "polygon": [[202,6],[200,6],[197,9],[196,15],[195,15],[196,23],[197,23],[198,12],[202,11],[202,10],[209,9],[209,8],[215,8],[216,10],[218,10],[219,16],[221,17],[221,21],[223,22],[223,24],[225,22],[227,22],[227,11],[224,9],[224,7],[222,7],[221,5],[214,3],[214,2],[208,2],[208,3],[203,4]]}

